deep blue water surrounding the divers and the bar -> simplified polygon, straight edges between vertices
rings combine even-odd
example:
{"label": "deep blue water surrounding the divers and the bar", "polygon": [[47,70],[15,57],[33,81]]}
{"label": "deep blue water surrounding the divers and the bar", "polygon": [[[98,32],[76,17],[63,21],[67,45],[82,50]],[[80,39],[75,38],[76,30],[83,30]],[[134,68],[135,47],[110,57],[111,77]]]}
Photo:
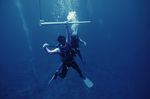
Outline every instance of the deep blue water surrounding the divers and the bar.
{"label": "deep blue water surrounding the divers and the bar", "polygon": [[46,21],[65,21],[69,11],[91,21],[78,29],[86,65],[76,61],[94,86],[72,68],[47,86],[61,61],[42,45],[56,45],[64,26],[40,27],[38,0],[0,0],[0,99],[150,99],[149,0],[41,1]]}

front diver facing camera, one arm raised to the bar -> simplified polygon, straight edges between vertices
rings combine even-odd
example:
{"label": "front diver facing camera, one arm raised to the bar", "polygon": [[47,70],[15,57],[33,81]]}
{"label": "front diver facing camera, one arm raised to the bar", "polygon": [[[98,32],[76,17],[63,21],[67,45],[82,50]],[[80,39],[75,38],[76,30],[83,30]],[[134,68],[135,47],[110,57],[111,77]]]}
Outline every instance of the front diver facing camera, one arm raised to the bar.
{"label": "front diver facing camera, one arm raised to the bar", "polygon": [[[58,47],[55,48],[54,50],[49,50],[49,44],[45,43],[43,45],[44,50],[48,53],[48,54],[59,54],[61,56],[61,61],[62,64],[59,67],[59,69],[56,71],[55,75],[54,75],[54,79],[57,78],[57,76],[60,76],[61,78],[65,78],[68,68],[72,67],[74,68],[80,75],[80,77],[82,79],[85,79],[84,75],[82,74],[81,70],[79,69],[77,63],[74,60],[76,51],[75,49],[73,49],[71,47],[71,34],[70,31],[68,29],[68,25],[65,24],[66,27],[66,38],[64,36],[59,36],[57,38],[57,41],[59,42]],[[60,72],[61,70],[61,72]]]}

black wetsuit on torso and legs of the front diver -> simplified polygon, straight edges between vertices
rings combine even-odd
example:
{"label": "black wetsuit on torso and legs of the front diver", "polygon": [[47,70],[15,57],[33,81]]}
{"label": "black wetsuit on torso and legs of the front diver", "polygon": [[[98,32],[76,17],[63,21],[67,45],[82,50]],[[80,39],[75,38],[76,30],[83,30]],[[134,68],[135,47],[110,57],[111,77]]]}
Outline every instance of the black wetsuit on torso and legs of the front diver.
{"label": "black wetsuit on torso and legs of the front diver", "polygon": [[59,46],[59,49],[61,51],[60,56],[62,60],[62,65],[60,67],[62,68],[62,72],[59,73],[59,76],[61,78],[65,78],[68,68],[72,67],[79,73],[80,77],[84,79],[81,70],[79,69],[77,63],[74,61],[75,51],[71,48],[71,46],[69,44],[66,44],[65,48]]}

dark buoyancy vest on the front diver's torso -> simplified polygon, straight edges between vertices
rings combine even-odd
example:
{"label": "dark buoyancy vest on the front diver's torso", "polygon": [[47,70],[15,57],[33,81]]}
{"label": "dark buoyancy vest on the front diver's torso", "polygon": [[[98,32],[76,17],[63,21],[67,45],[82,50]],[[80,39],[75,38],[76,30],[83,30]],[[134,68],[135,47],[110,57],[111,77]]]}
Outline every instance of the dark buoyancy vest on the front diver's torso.
{"label": "dark buoyancy vest on the front diver's torso", "polygon": [[71,46],[66,43],[66,47],[58,46],[61,53],[59,54],[61,56],[61,60],[63,62],[71,62],[74,60],[75,57],[75,50],[71,48]]}

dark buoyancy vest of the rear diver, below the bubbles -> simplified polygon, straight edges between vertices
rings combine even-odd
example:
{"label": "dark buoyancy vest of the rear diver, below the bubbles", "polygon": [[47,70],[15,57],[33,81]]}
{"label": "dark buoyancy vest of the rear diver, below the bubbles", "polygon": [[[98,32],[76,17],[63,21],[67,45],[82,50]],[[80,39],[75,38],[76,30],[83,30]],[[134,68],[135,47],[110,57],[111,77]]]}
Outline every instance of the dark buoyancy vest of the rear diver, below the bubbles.
{"label": "dark buoyancy vest of the rear diver, below the bubbles", "polygon": [[79,48],[79,36],[78,35],[71,36],[71,47]]}

